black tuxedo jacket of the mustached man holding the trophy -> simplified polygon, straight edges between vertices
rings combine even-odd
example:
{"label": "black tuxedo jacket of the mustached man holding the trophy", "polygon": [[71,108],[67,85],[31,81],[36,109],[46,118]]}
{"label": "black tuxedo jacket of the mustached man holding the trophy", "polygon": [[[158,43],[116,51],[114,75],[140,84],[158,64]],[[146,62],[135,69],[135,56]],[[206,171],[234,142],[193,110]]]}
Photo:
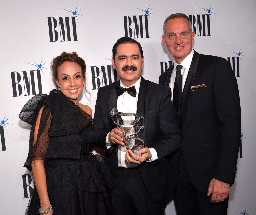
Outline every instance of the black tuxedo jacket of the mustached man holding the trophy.
{"label": "black tuxedo jacket of the mustached man holding the trophy", "polygon": [[[106,130],[106,133],[116,128],[110,116],[111,110],[117,106],[115,85],[119,85],[119,81],[98,90],[93,127]],[[144,117],[142,139],[145,140],[145,147],[153,147],[158,156],[156,161],[144,161],[139,164],[139,171],[152,199],[160,201],[175,187],[168,156],[178,150],[181,144],[181,132],[171,101],[170,88],[141,77],[137,113]],[[115,177],[118,164],[117,148],[118,145],[112,145],[110,149],[106,149],[105,155]]]}

